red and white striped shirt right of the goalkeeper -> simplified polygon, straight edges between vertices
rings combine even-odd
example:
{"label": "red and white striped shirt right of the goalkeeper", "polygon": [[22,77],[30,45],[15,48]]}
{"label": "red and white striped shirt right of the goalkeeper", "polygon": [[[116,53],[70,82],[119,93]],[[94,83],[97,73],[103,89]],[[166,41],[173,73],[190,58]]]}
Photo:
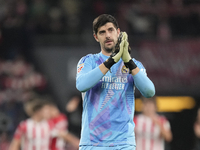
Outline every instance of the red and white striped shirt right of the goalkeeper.
{"label": "red and white striped shirt right of the goalkeeper", "polygon": [[[163,116],[158,117],[163,127],[170,129],[170,124]],[[140,114],[134,117],[136,150],[164,150],[164,138],[160,135],[160,128],[152,119]]]}

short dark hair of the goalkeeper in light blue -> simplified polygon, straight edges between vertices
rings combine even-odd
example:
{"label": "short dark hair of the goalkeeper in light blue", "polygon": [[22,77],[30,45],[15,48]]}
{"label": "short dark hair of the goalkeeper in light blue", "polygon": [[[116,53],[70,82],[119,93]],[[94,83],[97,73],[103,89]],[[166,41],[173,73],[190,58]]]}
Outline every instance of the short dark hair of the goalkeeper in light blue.
{"label": "short dark hair of the goalkeeper in light blue", "polygon": [[93,21],[93,32],[97,34],[98,29],[105,25],[106,23],[111,22],[115,26],[116,29],[119,28],[119,25],[117,23],[117,20],[112,16],[108,14],[102,14],[94,19]]}

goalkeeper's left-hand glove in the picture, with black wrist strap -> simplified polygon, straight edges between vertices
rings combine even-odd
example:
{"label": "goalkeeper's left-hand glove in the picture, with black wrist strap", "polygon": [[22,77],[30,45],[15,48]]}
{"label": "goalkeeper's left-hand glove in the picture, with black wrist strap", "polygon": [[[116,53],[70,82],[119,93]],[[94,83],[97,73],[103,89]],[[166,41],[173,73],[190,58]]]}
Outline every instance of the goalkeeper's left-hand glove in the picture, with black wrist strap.
{"label": "goalkeeper's left-hand glove in the picture, with black wrist strap", "polygon": [[124,49],[124,42],[125,42],[124,40],[122,41],[122,37],[123,37],[123,34],[120,33],[117,44],[115,45],[114,51],[112,52],[110,57],[104,62],[104,65],[108,69],[110,69],[112,65],[117,63],[122,56],[123,49]]}

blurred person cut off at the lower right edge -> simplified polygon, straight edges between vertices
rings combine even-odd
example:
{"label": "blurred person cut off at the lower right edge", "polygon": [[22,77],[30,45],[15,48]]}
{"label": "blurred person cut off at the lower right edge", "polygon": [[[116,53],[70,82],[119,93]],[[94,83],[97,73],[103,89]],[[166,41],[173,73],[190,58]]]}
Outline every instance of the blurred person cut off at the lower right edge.
{"label": "blurred person cut off at the lower right edge", "polygon": [[196,136],[196,144],[194,150],[200,150],[200,108],[197,111],[197,118],[194,123],[194,133]]}

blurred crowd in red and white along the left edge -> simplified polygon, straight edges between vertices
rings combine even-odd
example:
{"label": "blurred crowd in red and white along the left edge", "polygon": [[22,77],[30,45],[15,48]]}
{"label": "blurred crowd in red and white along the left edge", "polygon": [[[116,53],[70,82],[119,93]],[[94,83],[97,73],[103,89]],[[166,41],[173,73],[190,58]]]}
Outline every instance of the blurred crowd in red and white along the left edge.
{"label": "blurred crowd in red and white along the left edge", "polygon": [[21,56],[1,58],[0,66],[0,131],[10,139],[19,122],[27,117],[23,103],[45,91],[46,78]]}

